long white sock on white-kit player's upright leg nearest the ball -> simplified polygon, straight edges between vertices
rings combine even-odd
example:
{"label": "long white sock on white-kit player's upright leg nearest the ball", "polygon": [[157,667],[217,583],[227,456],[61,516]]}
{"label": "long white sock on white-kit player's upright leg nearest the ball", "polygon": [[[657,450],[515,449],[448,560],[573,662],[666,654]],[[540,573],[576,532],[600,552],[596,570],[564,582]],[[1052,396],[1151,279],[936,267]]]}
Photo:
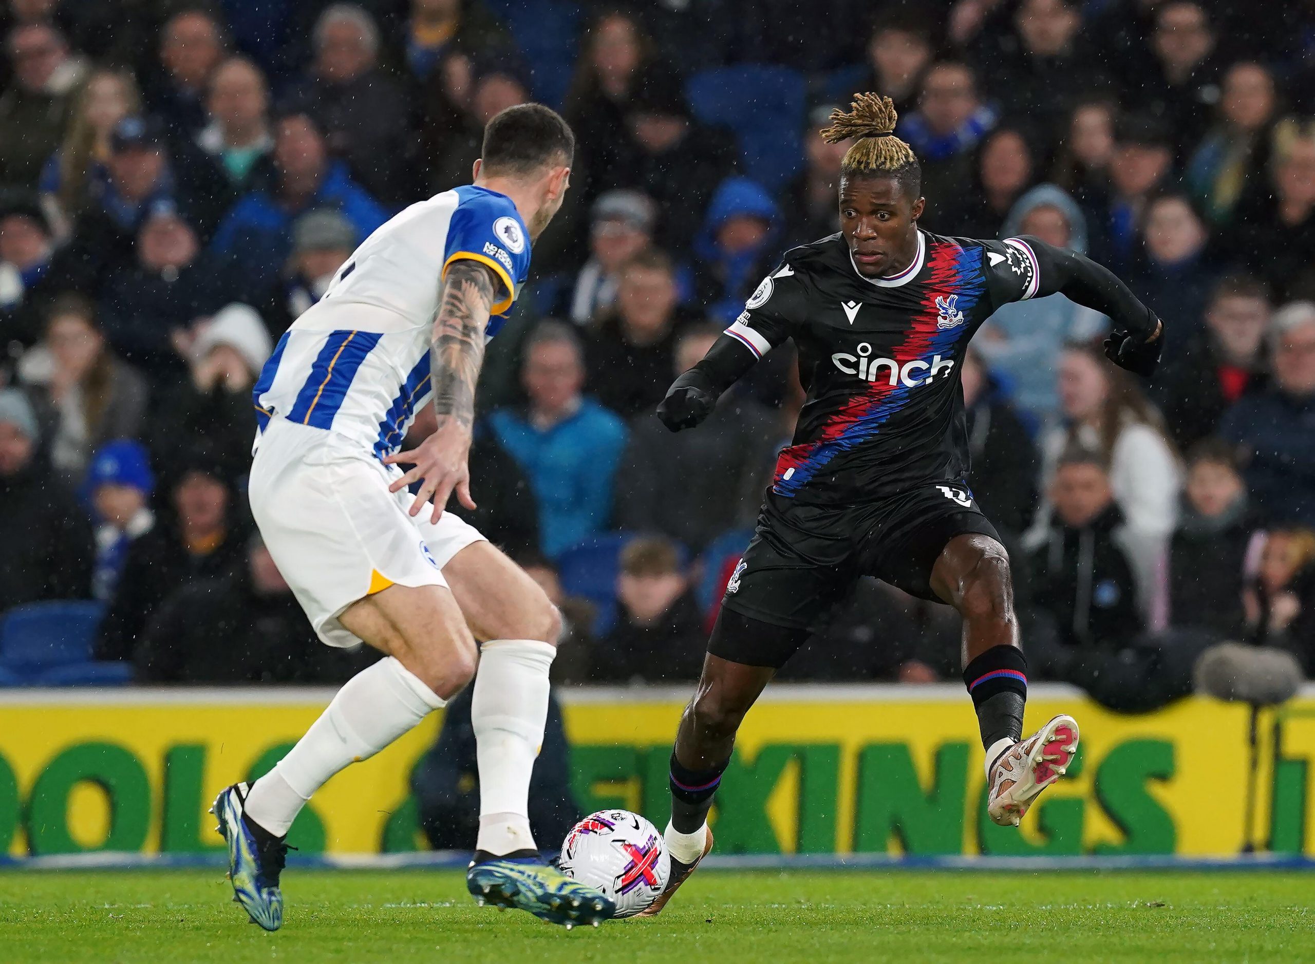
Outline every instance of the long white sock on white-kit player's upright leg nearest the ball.
{"label": "long white sock on white-kit player's upright leg nearest the ball", "polygon": [[548,668],[558,650],[538,639],[492,639],[480,648],[471,697],[480,767],[476,850],[537,850],[530,832],[530,773],[548,717]]}

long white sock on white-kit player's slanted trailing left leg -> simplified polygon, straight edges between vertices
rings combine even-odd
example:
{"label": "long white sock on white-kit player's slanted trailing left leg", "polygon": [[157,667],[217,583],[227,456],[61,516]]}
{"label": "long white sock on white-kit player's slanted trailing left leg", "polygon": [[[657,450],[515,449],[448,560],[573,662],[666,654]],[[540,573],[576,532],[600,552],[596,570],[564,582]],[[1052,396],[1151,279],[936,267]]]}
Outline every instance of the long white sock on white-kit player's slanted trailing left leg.
{"label": "long white sock on white-kit player's slanted trailing left leg", "polygon": [[246,814],[283,836],[310,794],[347,764],[366,760],[446,705],[419,677],[387,656],[343,684],[306,735],[255,781]]}

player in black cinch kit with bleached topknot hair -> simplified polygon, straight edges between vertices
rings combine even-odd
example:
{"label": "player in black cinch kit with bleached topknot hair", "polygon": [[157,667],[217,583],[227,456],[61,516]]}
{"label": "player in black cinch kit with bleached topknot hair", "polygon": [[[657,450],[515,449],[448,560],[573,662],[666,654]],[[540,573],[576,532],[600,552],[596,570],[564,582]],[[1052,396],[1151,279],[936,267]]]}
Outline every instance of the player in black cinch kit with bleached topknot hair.
{"label": "player in black cinch kit with bleached topknot hair", "polygon": [[1009,556],[970,488],[963,359],[997,308],[1056,292],[1107,314],[1107,354],[1141,375],[1159,362],[1162,325],[1082,255],[1027,235],[920,229],[920,171],[892,133],[889,99],[857,95],[831,120],[828,139],[857,138],[842,167],[842,231],[786,253],[658,409],[673,431],[698,425],[759,358],[794,339],[807,398],[681,718],[665,834],[671,884],[648,913],[711,848],[705,818],[744,714],[815,617],[861,576],[963,615],[964,683],[997,823],[1016,825],[1077,747],[1068,715],[1022,739],[1027,663]]}

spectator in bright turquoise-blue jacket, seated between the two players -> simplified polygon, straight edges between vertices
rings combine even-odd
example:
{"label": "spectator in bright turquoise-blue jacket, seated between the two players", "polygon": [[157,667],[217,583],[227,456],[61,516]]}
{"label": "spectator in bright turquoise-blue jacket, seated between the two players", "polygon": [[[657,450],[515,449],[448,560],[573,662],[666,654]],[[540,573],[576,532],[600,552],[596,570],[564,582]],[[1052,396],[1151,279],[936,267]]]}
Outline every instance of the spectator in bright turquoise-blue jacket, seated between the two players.
{"label": "spectator in bright turquoise-blue jacket, seated between the two players", "polygon": [[521,384],[526,408],[498,409],[489,423],[529,476],[543,551],[556,556],[608,527],[626,425],[580,395],[584,351],[564,322],[542,322],[526,339]]}

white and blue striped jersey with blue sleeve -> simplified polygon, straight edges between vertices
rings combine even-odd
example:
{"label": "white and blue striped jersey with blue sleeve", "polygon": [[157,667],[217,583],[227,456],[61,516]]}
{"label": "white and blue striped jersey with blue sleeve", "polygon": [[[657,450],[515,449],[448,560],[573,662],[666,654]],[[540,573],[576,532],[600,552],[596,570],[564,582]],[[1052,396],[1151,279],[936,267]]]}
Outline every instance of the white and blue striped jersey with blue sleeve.
{"label": "white and blue striped jersey with blue sleeve", "polygon": [[442,279],[460,258],[501,279],[492,338],[529,272],[530,234],[510,197],[466,185],[410,205],[338,268],[260,372],[251,393],[259,430],[281,417],[347,435],[377,458],[397,451],[430,395]]}

